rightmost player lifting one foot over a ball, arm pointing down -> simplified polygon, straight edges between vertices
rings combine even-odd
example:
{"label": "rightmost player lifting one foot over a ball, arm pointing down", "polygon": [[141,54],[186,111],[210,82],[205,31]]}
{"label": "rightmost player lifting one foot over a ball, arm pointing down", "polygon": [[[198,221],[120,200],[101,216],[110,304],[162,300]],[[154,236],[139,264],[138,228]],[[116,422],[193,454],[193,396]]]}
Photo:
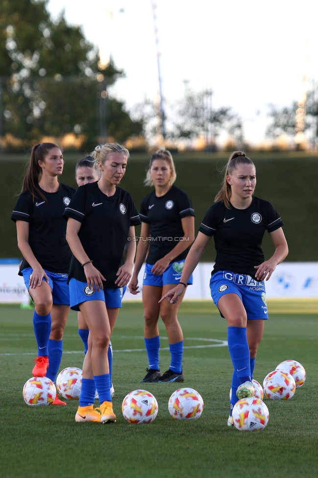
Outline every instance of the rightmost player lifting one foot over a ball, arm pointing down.
{"label": "rightmost player lifting one foot over a ball, arm pointing down", "polygon": [[[283,222],[271,203],[253,196],[256,172],[242,151],[229,157],[222,189],[215,197],[199,228],[185,261],[180,284],[166,293],[171,304],[182,295],[188,277],[214,236],[217,252],[210,281],[211,295],[227,320],[228,349],[234,366],[231,411],[227,424],[233,425],[232,408],[238,399],[254,395],[253,370],[264,321],[268,319],[264,280],[288,254]],[[262,239],[268,231],[275,252],[264,260]]]}

